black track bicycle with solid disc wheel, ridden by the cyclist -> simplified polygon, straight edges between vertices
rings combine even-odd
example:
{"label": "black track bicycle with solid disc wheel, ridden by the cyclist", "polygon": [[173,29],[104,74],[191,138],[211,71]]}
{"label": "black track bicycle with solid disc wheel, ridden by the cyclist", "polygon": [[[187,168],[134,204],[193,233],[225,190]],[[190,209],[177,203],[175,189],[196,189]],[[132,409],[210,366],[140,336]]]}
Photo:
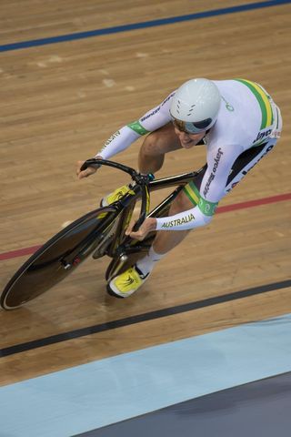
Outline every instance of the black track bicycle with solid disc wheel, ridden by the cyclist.
{"label": "black track bicycle with solid disc wheel, ridden by the cyclist", "polygon": [[[99,168],[100,165],[129,174],[132,178],[129,192],[111,205],[97,208],[76,219],[36,250],[5,286],[0,297],[0,305],[4,310],[15,310],[50,290],[90,255],[94,259],[105,255],[111,258],[105,271],[107,283],[132,267],[150,248],[156,236],[156,231],[149,233],[143,241],[125,236],[136,202],[141,201],[141,206],[134,230],[139,229],[147,216],[166,217],[181,189],[205,170],[200,168],[190,173],[155,179],[151,174],[144,176],[137,173],[134,168],[95,158],[87,159],[81,169]],[[150,192],[168,187],[176,188],[149,212]],[[110,294],[108,287],[107,291]]]}

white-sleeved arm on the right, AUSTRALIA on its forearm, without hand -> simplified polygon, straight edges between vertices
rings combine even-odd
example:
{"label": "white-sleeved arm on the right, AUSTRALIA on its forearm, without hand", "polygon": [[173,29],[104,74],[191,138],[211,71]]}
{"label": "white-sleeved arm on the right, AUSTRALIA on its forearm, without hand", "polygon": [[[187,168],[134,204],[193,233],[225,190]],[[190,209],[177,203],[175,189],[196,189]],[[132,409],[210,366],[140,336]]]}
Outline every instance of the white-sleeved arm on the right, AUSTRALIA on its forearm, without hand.
{"label": "white-sleeved arm on the right, AUSTRALIA on its forearm, without hand", "polygon": [[224,197],[232,165],[242,147],[213,147],[207,153],[207,169],[200,192],[196,191],[196,207],[175,216],[156,219],[156,230],[186,230],[204,226],[213,218],[218,201]]}

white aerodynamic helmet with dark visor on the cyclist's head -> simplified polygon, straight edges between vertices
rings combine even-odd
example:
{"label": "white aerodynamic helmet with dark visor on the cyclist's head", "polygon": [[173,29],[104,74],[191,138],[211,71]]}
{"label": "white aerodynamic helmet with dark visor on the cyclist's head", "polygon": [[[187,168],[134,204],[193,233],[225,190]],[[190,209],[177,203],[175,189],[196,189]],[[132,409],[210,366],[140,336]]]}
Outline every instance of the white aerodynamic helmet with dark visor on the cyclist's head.
{"label": "white aerodynamic helmet with dark visor on the cyclist's head", "polygon": [[196,134],[216,123],[221,96],[217,86],[208,79],[188,80],[176,90],[170,114],[174,126]]}

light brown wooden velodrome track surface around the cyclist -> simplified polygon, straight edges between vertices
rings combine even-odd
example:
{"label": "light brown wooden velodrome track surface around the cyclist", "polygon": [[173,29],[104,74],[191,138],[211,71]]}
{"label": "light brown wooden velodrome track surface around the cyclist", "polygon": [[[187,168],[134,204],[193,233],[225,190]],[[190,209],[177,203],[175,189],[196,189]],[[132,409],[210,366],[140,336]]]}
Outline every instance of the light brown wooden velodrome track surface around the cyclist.
{"label": "light brown wooden velodrome track surface around the cyclist", "polygon": [[[1,44],[242,3],[251,2],[2,0]],[[246,77],[259,82],[284,119],[275,150],[220,206],[271,198],[270,203],[254,208],[246,203],[217,214],[161,261],[144,290],[128,300],[105,293],[108,259],[88,259],[23,309],[0,311],[1,350],[290,279],[290,13],[290,5],[276,5],[1,54],[1,289],[27,258],[19,256],[21,249],[42,244],[65,221],[95,208],[105,193],[128,180],[103,168],[78,181],[75,161],[94,156],[118,127],[156,106],[186,79]],[[140,144],[115,160],[136,167]],[[159,175],[204,163],[203,147],[182,150],[166,158]],[[155,193],[155,203],[163,197],[162,191]],[[290,287],[275,286],[244,299],[2,353],[0,383],[290,311]]]}

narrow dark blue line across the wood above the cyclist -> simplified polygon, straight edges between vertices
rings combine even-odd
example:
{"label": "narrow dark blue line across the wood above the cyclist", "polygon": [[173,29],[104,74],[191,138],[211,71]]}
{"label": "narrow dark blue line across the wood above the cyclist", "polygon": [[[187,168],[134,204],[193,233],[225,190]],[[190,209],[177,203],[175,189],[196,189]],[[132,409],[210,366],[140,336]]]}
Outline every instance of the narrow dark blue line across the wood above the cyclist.
{"label": "narrow dark blue line across the wood above the cyclist", "polygon": [[131,25],[116,25],[114,27],[107,27],[105,29],[96,29],[88,32],[77,32],[75,34],[52,36],[49,38],[34,39],[30,41],[23,41],[12,44],[5,44],[0,46],[0,52],[6,52],[11,50],[19,50],[21,48],[45,46],[47,44],[63,43],[65,41],[73,41],[76,39],[84,39],[92,36],[103,36],[117,34],[119,32],[128,32],[136,29],[144,29],[146,27],[155,27],[157,25],[171,25],[175,23],[182,23],[190,20],[197,20],[199,18],[206,18],[209,16],[234,14],[236,12],[245,12],[254,9],[260,9],[263,7],[286,5],[291,3],[291,0],[269,0],[266,2],[250,3],[248,5],[237,5],[232,7],[224,7],[221,9],[214,9],[212,11],[199,12],[196,14],[171,16],[169,18],[162,18],[159,20],[146,21],[144,23],[133,23]]}

